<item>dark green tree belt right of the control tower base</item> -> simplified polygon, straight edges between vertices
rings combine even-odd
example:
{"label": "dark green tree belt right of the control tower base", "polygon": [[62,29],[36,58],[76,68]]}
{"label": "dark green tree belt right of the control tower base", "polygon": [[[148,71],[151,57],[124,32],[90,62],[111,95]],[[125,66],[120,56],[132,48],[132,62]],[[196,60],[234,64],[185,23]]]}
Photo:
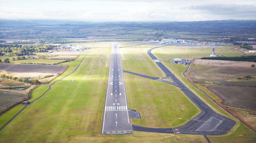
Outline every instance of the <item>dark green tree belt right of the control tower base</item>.
{"label": "dark green tree belt right of the control tower base", "polygon": [[202,57],[201,59],[256,62],[256,56],[247,56],[247,57]]}

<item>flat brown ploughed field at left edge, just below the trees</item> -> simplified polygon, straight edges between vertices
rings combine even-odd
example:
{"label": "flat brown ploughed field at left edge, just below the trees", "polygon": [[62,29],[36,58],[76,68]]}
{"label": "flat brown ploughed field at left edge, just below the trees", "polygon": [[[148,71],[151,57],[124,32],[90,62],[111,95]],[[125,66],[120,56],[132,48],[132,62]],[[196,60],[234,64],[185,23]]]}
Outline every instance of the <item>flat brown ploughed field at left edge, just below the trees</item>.
{"label": "flat brown ploughed field at left edge, just below the trees", "polygon": [[35,64],[14,64],[0,63],[0,70],[6,72],[40,72],[40,73],[61,73],[67,66],[35,65]]}

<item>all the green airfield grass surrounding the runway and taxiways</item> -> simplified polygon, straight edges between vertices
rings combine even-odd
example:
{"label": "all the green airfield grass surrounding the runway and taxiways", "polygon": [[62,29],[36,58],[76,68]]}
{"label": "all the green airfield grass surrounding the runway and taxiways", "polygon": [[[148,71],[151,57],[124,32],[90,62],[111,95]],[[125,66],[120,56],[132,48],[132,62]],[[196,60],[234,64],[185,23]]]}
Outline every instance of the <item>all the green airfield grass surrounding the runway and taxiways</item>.
{"label": "all the green airfield grass surrounding the runway and taxiways", "polygon": [[[149,76],[163,77],[163,72],[147,55],[148,49],[158,46],[142,45],[121,48],[123,69]],[[160,48],[156,50],[158,49]],[[100,54],[100,51],[93,52],[99,52],[99,54],[88,54],[76,72],[63,81],[57,81],[42,98],[29,105],[0,131],[0,142],[207,143],[203,135],[174,135],[139,131],[133,131],[133,134],[126,135],[101,135],[110,54]],[[170,53],[172,53],[171,50],[163,51],[155,56],[165,59]],[[84,56],[80,55],[74,61],[62,63],[62,65],[69,65],[68,69],[50,84],[74,71]],[[162,63],[214,111],[234,119],[183,76],[182,72],[187,66],[168,61],[162,61]],[[75,80],[73,82],[66,81],[73,78]],[[172,126],[180,126],[199,111],[175,86],[128,73],[124,73],[124,78],[128,106],[140,112],[142,116],[142,119],[132,119],[131,122],[134,124],[170,127],[171,123]],[[49,84],[46,84],[35,88],[29,101],[42,95],[48,86]],[[3,126],[23,107],[24,105],[17,105],[0,115],[0,126]],[[241,122],[237,120],[236,122],[235,127],[227,135],[208,136],[208,138],[213,143],[254,142],[256,140],[255,132]]]}

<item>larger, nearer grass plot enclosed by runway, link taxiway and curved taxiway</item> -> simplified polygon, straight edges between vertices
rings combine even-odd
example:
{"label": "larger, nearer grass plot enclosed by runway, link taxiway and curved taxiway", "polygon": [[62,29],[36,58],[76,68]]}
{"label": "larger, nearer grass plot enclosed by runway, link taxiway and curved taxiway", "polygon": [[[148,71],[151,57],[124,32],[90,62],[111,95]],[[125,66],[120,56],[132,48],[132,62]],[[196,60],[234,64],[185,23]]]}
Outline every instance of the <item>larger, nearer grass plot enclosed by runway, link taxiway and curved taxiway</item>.
{"label": "larger, nearer grass plot enclosed by runway, link taxiway and curved taxiway", "polygon": [[132,119],[136,125],[167,128],[171,123],[177,127],[199,114],[199,109],[175,86],[128,73],[124,80],[129,108],[142,117]]}

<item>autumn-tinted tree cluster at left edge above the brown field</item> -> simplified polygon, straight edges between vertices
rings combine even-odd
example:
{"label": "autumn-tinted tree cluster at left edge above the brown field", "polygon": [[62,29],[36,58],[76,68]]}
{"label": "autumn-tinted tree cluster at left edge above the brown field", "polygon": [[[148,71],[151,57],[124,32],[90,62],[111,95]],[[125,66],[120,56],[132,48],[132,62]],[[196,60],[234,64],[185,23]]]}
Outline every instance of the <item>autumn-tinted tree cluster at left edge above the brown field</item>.
{"label": "autumn-tinted tree cluster at left edge above the brown field", "polygon": [[0,44],[0,56],[24,56],[33,53],[48,52],[54,48],[52,45],[19,45]]}

